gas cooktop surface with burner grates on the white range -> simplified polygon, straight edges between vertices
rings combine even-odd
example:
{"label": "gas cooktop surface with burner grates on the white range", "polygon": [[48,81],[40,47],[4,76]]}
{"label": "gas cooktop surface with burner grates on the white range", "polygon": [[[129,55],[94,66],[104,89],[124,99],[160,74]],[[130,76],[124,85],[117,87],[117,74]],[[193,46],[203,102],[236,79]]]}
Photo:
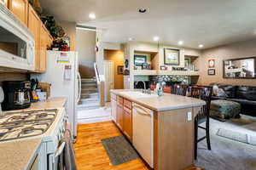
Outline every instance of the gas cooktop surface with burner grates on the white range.
{"label": "gas cooktop surface with burner grates on the white range", "polygon": [[0,142],[45,133],[55,121],[57,110],[16,111],[0,117]]}

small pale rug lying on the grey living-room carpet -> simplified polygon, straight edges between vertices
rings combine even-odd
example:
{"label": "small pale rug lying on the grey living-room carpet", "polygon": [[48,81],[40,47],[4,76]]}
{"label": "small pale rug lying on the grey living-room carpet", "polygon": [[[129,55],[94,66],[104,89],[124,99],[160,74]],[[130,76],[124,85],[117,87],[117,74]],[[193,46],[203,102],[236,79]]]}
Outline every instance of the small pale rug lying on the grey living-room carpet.
{"label": "small pale rug lying on the grey living-room carpet", "polygon": [[256,145],[256,137],[247,133],[239,133],[229,129],[219,128],[217,132],[218,136],[222,136],[227,139],[236,140],[245,144]]}

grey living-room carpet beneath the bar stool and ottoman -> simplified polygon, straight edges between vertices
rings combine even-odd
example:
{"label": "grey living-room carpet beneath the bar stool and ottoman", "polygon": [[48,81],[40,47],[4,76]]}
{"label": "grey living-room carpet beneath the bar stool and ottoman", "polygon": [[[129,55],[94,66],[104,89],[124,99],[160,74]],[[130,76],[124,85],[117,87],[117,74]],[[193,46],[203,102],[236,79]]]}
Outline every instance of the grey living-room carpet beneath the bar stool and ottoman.
{"label": "grey living-room carpet beneath the bar stool and ottoman", "polygon": [[[210,119],[210,136],[212,150],[207,150],[206,140],[198,143],[195,166],[206,170],[255,170],[256,146],[233,139],[218,136],[219,128],[256,136],[256,117],[241,115],[241,119],[219,122]],[[202,124],[201,126],[204,126]],[[206,135],[204,129],[198,130],[198,138]]]}

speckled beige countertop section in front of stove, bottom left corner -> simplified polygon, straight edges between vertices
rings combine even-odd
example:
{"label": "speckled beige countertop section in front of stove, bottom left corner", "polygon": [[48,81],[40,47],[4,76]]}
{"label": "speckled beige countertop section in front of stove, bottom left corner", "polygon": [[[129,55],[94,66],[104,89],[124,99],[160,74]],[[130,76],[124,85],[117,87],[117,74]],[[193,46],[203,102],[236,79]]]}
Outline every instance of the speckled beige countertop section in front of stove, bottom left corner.
{"label": "speckled beige countertop section in front of stove, bottom left corner", "polygon": [[0,144],[0,169],[25,170],[32,165],[41,139],[22,139]]}

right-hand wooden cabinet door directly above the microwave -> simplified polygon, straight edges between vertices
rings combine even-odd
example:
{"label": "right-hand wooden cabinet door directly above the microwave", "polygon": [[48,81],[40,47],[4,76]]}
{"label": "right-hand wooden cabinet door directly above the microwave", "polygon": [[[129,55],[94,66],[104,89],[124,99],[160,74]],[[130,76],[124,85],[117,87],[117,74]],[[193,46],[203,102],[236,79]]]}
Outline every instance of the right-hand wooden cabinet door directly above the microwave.
{"label": "right-hand wooden cabinet door directly above the microwave", "polygon": [[9,0],[9,10],[27,26],[27,0]]}

